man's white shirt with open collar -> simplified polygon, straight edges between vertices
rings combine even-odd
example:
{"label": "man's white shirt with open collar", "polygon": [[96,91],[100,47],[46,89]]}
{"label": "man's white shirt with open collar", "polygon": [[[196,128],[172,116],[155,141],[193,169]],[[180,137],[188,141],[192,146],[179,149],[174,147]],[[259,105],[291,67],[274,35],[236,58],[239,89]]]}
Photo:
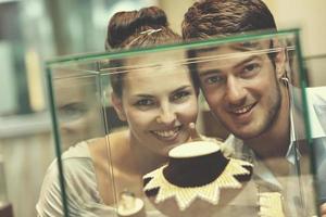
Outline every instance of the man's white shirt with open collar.
{"label": "man's white shirt with open collar", "polygon": [[[286,159],[290,163],[289,174],[285,177],[286,181],[280,184],[274,174],[265,166],[263,161],[260,161],[255,155],[253,150],[249,146],[243,145],[243,141],[230,135],[225,143],[231,145],[235,149],[235,153],[246,155],[251,158],[254,165],[253,179],[261,180],[260,183],[264,183],[271,191],[280,192],[286,196],[286,204],[288,204],[288,216],[309,216],[310,214],[304,214],[306,206],[310,209],[314,209],[314,204],[306,205],[306,203],[314,203],[313,194],[313,178],[312,175],[308,177],[302,177],[300,174],[300,152],[297,149],[296,141],[305,138],[305,135],[296,130],[296,119],[293,119],[293,112],[299,110],[302,112],[301,106],[301,92],[298,88],[291,88],[291,110],[290,110],[290,144],[286,154]],[[310,117],[311,137],[312,138],[323,138],[325,137],[325,122],[326,122],[326,87],[321,88],[308,88],[306,89],[308,99],[308,111]],[[324,113],[323,113],[324,112]],[[324,115],[324,117],[323,117]],[[323,125],[324,122],[324,125]],[[323,128],[324,126],[324,128]],[[326,139],[323,141],[323,145],[326,148]],[[325,157],[324,157],[325,158]],[[326,169],[326,168],[325,168]],[[285,187],[286,186],[286,187]],[[306,188],[310,188],[306,189]],[[304,193],[305,192],[305,193]],[[309,192],[310,195],[304,195]]]}

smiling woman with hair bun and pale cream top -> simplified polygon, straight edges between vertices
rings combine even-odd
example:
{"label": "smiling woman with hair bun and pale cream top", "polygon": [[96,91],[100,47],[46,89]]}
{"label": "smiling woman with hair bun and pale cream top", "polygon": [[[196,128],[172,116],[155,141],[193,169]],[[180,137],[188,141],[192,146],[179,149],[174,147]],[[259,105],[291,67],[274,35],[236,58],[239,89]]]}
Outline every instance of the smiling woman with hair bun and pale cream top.
{"label": "smiling woman with hair bun and pale cream top", "polygon": [[[116,13],[109,24],[105,48],[142,48],[180,40],[168,28],[165,13],[152,7]],[[197,119],[198,88],[187,67],[175,64],[176,55],[184,58],[179,52],[118,63],[123,67],[141,66],[110,77],[112,104],[128,129],[80,142],[63,154],[70,216],[113,215],[115,195],[126,191],[141,197],[141,177],[165,163],[168,150],[190,139],[188,126]],[[149,63],[155,67],[147,67]],[[62,216],[62,209],[57,163],[52,163],[37,213]]]}

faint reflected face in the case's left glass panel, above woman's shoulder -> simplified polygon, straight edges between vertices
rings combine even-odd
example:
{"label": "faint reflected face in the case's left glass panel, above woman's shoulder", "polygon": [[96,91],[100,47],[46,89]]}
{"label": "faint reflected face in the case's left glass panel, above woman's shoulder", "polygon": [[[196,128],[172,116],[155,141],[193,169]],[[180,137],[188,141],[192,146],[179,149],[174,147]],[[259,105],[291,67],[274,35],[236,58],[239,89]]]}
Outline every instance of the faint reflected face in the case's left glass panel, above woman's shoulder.
{"label": "faint reflected face in the case's left glass panel, above woman's shoulder", "polygon": [[55,69],[52,85],[63,150],[103,135],[98,82],[98,75],[92,72]]}

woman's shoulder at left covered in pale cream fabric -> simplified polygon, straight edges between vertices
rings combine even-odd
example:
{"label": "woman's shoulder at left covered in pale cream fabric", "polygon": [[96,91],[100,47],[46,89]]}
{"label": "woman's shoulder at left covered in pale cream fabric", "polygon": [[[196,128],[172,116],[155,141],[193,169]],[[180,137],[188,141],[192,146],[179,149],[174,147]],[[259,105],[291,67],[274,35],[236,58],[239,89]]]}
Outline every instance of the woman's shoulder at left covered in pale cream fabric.
{"label": "woman's shoulder at left covered in pale cream fabric", "polygon": [[[36,206],[40,216],[50,213],[53,216],[63,216],[61,201],[60,169],[58,158],[48,167],[38,204]],[[95,169],[91,163],[87,141],[71,146],[61,155],[65,192],[72,210],[78,210],[84,203],[101,203],[97,191]]]}

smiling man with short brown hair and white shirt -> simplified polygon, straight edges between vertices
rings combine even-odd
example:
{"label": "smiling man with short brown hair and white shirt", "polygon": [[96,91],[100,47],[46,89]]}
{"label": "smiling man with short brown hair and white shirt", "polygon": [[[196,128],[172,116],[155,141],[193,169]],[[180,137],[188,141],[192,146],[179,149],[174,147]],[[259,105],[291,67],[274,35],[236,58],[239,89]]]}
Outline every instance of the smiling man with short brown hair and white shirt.
{"label": "smiling man with short brown hair and white shirt", "polygon": [[[188,10],[183,23],[185,40],[265,29],[277,30],[273,14],[261,0],[199,1]],[[311,212],[306,207],[314,203],[314,197],[309,190],[301,193],[300,189],[311,180],[301,182],[297,178],[304,174],[300,165],[309,170],[308,149],[306,144],[294,141],[293,136],[297,131],[293,126],[299,126],[296,122],[303,120],[300,113],[299,116],[292,113],[287,55],[280,42],[276,39],[247,41],[200,50],[195,55],[243,54],[243,51],[268,49],[277,52],[216,59],[197,63],[196,69],[211,111],[231,132],[226,143],[254,158],[260,187],[286,196],[287,216],[309,216]],[[319,146],[324,148],[325,143]],[[321,207],[321,213],[326,215],[325,204]]]}

